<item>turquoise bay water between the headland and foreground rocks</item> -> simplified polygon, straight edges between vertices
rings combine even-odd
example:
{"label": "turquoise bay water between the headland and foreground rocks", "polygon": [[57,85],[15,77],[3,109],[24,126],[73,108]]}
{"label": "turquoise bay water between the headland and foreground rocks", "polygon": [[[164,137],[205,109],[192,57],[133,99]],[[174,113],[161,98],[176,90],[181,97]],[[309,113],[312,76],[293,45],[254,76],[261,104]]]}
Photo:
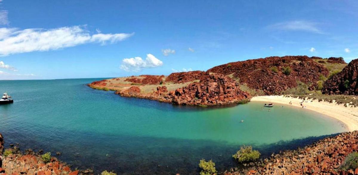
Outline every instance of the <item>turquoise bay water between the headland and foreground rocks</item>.
{"label": "turquoise bay water between the headland and foreground rocks", "polygon": [[5,145],[60,151],[61,160],[97,172],[195,174],[202,158],[213,159],[218,170],[234,166],[231,155],[244,144],[265,156],[346,131],[302,108],[174,106],[85,86],[96,80],[0,81],[0,93],[14,98],[0,106]]}

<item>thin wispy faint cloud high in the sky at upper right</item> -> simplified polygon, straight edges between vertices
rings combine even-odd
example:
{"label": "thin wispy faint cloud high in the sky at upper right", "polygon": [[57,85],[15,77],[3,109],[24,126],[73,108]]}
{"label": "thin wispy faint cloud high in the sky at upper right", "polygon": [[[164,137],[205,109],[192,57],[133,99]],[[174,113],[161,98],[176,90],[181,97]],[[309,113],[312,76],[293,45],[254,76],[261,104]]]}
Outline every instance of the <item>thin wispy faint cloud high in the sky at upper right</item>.
{"label": "thin wispy faint cloud high in the sky at upper right", "polygon": [[313,23],[304,20],[287,21],[283,23],[276,23],[268,26],[268,28],[277,30],[296,30],[296,31],[308,31],[312,33],[323,34],[323,32],[317,27],[318,23]]}

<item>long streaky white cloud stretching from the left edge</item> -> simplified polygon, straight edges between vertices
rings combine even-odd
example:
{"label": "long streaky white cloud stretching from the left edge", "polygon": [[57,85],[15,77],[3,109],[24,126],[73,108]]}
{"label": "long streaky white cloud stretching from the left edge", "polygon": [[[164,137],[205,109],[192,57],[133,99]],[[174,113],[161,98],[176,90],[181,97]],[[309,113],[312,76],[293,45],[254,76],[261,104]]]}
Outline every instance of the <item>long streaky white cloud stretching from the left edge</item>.
{"label": "long streaky white cloud stretching from the left edge", "polygon": [[0,28],[0,56],[34,51],[57,50],[74,47],[86,43],[115,43],[133,35],[94,34],[90,35],[83,26],[71,26],[55,29],[24,29]]}

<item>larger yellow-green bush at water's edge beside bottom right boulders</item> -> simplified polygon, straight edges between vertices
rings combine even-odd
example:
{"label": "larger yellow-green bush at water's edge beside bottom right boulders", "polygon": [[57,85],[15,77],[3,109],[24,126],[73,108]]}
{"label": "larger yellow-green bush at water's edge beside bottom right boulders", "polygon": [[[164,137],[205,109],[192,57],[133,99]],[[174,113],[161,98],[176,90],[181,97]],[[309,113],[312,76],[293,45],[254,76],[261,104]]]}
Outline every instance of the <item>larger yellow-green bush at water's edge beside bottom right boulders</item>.
{"label": "larger yellow-green bush at water's edge beside bottom right boulders", "polygon": [[260,152],[257,150],[252,150],[251,146],[243,146],[236,152],[236,154],[232,155],[232,157],[241,163],[255,161],[260,157],[260,155]]}

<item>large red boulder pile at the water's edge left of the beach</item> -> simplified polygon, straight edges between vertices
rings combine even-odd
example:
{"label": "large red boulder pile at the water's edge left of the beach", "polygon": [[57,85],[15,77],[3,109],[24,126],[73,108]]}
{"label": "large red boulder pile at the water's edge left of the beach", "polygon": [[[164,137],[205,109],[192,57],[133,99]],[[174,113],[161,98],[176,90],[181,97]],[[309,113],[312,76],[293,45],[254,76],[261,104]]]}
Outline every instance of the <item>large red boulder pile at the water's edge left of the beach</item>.
{"label": "large red boulder pile at the water's edge left of the beach", "polygon": [[182,105],[222,105],[237,103],[250,95],[243,92],[233,79],[222,75],[207,75],[200,82],[191,83],[168,94],[172,103]]}

